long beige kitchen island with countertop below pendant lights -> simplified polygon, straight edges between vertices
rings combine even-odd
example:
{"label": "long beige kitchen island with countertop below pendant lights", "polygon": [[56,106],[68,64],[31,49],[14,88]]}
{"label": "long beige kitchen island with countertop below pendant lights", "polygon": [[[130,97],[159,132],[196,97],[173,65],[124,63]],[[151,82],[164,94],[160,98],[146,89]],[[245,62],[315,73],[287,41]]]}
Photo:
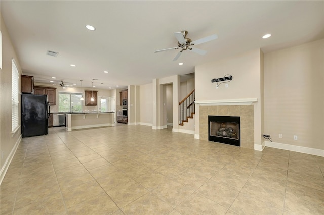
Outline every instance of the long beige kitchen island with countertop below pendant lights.
{"label": "long beige kitchen island with countertop below pendant lights", "polygon": [[68,112],[65,113],[67,131],[82,128],[114,126],[115,112]]}

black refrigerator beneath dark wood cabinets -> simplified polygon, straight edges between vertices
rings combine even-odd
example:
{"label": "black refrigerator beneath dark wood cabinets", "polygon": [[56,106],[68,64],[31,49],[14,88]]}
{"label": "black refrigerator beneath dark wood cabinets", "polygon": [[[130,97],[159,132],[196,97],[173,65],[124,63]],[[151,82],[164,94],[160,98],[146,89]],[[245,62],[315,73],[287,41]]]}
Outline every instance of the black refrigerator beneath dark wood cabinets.
{"label": "black refrigerator beneath dark wood cabinets", "polygon": [[50,105],[47,95],[21,94],[21,135],[32,137],[49,133]]}

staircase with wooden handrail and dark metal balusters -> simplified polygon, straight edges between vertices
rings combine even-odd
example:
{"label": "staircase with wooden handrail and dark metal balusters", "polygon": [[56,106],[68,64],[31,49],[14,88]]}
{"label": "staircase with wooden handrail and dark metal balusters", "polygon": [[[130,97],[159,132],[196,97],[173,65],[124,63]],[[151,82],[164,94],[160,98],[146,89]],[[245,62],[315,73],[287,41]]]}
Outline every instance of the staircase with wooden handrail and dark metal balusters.
{"label": "staircase with wooden handrail and dark metal balusters", "polygon": [[192,90],[181,102],[180,106],[180,123],[183,126],[184,122],[188,122],[188,119],[193,118],[194,111],[194,90]]}

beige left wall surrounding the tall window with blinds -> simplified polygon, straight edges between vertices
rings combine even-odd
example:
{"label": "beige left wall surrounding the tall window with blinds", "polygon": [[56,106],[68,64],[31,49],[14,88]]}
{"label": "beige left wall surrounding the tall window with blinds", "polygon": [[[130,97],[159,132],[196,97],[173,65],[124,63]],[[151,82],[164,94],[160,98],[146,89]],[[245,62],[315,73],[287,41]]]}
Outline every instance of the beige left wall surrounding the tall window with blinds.
{"label": "beige left wall surrounding the tall window with blinds", "polygon": [[[15,134],[11,133],[11,75],[12,75],[12,58],[15,59],[17,69],[21,73],[19,59],[15,53],[15,49],[11,43],[7,28],[0,15],[0,30],[2,33],[2,70],[0,71],[0,183],[5,176],[7,168],[14,155],[16,147],[21,139],[21,130],[17,130]],[[20,86],[20,81],[19,81]],[[19,90],[20,91],[20,90]],[[20,102],[20,96],[19,96]],[[19,125],[20,119],[19,107]]]}

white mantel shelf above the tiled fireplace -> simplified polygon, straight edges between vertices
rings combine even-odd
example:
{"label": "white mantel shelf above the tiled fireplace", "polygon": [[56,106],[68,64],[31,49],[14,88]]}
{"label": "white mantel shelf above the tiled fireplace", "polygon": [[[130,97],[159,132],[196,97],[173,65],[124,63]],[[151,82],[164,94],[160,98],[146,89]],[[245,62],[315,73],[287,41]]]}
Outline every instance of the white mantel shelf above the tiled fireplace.
{"label": "white mantel shelf above the tiled fireplace", "polygon": [[258,98],[239,98],[239,99],[222,99],[222,100],[205,100],[195,101],[195,104],[201,106],[212,106],[212,105],[251,105],[253,102],[257,102]]}

